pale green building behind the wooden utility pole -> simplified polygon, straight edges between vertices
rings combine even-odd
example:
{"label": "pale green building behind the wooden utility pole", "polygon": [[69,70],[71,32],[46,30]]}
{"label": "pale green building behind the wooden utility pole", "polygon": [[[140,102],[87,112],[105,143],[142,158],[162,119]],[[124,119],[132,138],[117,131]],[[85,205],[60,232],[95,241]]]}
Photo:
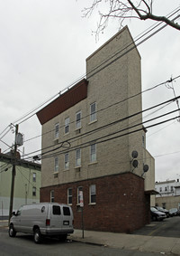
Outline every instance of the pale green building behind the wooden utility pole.
{"label": "pale green building behind the wooden utility pole", "polygon": [[[11,154],[0,153],[0,216],[9,215],[13,161]],[[40,203],[40,176],[40,164],[17,159],[14,211],[22,204]]]}

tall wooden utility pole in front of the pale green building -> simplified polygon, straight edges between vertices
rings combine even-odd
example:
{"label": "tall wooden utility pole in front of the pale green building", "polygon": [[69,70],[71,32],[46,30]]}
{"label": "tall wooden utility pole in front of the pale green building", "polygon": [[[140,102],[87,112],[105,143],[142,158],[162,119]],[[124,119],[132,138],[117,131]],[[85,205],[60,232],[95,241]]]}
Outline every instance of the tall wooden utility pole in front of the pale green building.
{"label": "tall wooden utility pole in front of the pale green building", "polygon": [[13,170],[12,170],[12,185],[11,185],[11,197],[10,197],[10,206],[9,206],[9,223],[13,213],[14,207],[14,180],[15,180],[15,166],[16,166],[16,152],[17,152],[17,134],[18,134],[18,125],[15,126],[15,141],[14,141],[14,155],[13,155]]}

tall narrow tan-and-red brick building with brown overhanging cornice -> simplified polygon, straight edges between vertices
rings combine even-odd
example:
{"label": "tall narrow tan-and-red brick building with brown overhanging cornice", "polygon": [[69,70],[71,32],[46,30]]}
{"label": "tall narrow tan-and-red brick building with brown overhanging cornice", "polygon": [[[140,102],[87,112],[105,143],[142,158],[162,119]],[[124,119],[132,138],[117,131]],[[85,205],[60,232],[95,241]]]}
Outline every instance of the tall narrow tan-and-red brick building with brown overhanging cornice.
{"label": "tall narrow tan-and-red brick building with brown overhanging cornice", "polygon": [[86,79],[37,113],[40,202],[72,205],[79,229],[82,192],[86,230],[132,232],[148,223],[155,169],[141,110],[140,56],[125,27],[86,59]]}

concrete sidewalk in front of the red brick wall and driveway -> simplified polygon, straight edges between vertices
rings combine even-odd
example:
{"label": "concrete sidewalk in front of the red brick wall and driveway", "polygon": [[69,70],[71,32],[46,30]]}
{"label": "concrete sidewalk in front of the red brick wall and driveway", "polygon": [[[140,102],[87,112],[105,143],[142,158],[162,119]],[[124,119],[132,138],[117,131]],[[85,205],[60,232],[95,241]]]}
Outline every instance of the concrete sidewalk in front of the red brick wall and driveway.
{"label": "concrete sidewalk in front of the red brick wall and driveway", "polygon": [[[8,229],[8,221],[0,221],[0,228]],[[85,231],[84,238],[82,236],[82,230],[75,230],[68,239],[113,248],[180,255],[180,238],[94,231]]]}

